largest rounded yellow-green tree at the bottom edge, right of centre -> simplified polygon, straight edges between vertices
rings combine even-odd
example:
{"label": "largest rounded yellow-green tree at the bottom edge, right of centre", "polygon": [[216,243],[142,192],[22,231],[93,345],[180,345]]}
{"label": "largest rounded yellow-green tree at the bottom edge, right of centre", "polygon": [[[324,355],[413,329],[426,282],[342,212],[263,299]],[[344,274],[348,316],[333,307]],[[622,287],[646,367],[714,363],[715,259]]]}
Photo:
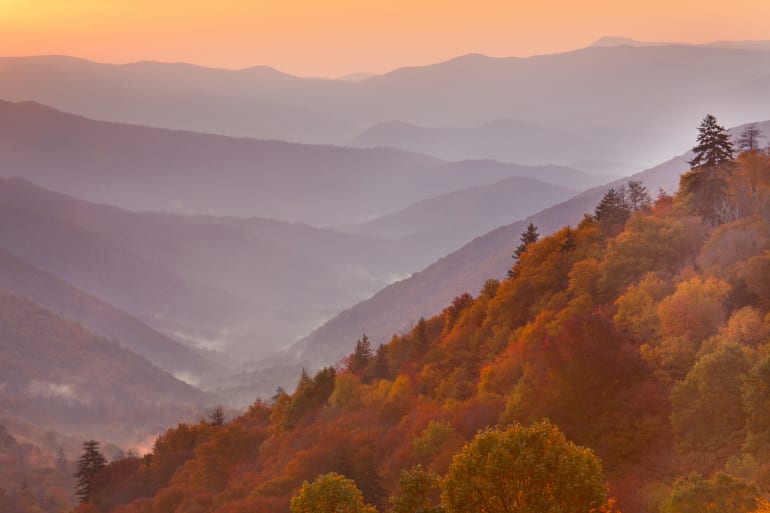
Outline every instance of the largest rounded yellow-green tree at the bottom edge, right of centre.
{"label": "largest rounded yellow-green tree at the bottom edge, right of centre", "polygon": [[586,513],[606,502],[599,459],[549,421],[479,433],[443,483],[448,513]]}

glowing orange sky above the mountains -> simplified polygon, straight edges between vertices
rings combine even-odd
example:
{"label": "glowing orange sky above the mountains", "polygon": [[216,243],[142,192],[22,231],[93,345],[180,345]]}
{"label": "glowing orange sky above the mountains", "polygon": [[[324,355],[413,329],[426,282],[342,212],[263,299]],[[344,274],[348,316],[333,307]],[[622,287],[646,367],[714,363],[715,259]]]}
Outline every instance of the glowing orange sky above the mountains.
{"label": "glowing orange sky above the mountains", "polygon": [[603,35],[770,39],[770,0],[0,0],[0,55],[312,76],[551,53]]}

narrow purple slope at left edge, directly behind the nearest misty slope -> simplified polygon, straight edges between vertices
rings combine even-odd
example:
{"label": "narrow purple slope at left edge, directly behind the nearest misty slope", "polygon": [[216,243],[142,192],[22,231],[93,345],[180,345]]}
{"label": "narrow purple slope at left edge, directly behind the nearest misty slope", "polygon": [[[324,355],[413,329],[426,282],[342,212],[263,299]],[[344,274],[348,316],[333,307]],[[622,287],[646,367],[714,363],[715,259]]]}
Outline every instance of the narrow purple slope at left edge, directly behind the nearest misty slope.
{"label": "narrow purple slope at left edge, directly behind the nearest misty slope", "polygon": [[0,250],[0,289],[81,323],[186,380],[206,380],[219,366],[100,299]]}

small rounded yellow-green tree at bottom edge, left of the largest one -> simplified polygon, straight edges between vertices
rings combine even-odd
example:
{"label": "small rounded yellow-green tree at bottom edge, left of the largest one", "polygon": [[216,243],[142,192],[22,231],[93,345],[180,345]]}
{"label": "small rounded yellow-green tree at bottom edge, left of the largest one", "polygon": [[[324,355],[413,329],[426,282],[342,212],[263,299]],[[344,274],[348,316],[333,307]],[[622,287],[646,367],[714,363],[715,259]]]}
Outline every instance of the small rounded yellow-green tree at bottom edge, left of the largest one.
{"label": "small rounded yellow-green tree at bottom edge, left of the largest one", "polygon": [[291,513],[376,513],[374,506],[364,503],[361,490],[352,479],[337,473],[318,476],[305,483],[291,498]]}

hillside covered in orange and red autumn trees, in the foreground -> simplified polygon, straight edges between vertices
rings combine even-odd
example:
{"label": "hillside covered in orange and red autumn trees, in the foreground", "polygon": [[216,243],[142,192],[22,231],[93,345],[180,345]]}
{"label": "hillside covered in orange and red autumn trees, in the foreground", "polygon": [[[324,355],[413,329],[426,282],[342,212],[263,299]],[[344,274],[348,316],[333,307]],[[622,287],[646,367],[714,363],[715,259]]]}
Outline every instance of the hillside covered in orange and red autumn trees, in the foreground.
{"label": "hillside covered in orange and red autumn trees, in the foreground", "polygon": [[706,118],[675,196],[611,189],[477,297],[109,465],[79,511],[756,510],[770,155],[743,146]]}

